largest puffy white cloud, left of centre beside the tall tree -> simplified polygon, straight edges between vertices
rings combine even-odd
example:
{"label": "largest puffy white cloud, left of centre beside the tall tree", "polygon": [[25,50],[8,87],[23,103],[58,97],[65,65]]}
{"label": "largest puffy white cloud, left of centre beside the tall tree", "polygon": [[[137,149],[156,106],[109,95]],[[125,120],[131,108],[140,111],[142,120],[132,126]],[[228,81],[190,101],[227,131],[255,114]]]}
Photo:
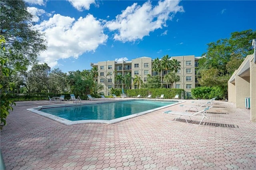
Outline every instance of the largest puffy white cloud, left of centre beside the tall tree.
{"label": "largest puffy white cloud, left of centre beside the tall tree", "polygon": [[38,59],[50,67],[57,65],[58,59],[78,58],[85,52],[95,51],[108,39],[102,24],[91,14],[78,20],[55,14],[35,27],[45,33],[48,42],[47,51]]}

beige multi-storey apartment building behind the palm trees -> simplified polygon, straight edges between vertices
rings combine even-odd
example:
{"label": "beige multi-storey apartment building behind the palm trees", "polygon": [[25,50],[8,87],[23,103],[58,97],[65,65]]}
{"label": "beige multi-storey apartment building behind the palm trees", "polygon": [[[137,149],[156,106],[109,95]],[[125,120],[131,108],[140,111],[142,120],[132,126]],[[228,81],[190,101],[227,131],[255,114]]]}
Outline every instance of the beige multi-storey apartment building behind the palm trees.
{"label": "beige multi-storey apartment building behind the palm trees", "polygon": [[[198,87],[199,83],[197,81],[196,69],[198,67],[198,60],[200,57],[195,57],[194,55],[184,55],[184,56],[173,56],[171,59],[177,59],[180,61],[180,69],[177,75],[180,76],[180,81],[176,82],[176,89],[184,89],[187,96],[191,96],[191,89]],[[147,82],[148,75],[154,76],[158,75],[156,71],[152,70],[152,63],[154,59],[151,57],[140,57],[132,59],[132,61],[100,61],[98,63],[91,63],[92,67],[98,68],[98,83],[104,85],[104,89],[100,92],[106,96],[110,95],[110,89],[112,87],[126,88],[125,84],[122,82],[114,82],[114,71],[117,75],[124,76],[130,73],[132,77],[138,75],[141,77],[143,83]],[[167,71],[168,73],[168,71]],[[166,71],[162,70],[160,73],[160,80],[165,88],[172,88],[170,83],[166,84],[164,76]],[[136,85],[132,86],[132,89],[137,89]]]}

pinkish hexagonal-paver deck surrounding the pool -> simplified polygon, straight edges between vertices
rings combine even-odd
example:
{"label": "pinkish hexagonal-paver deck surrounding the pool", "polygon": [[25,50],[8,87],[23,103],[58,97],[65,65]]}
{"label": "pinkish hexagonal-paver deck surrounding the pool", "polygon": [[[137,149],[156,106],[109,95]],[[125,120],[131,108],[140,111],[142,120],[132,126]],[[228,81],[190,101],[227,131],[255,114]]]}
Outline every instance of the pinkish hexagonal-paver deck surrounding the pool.
{"label": "pinkish hexagonal-paver deck surrounding the pool", "polygon": [[0,136],[6,170],[256,169],[256,123],[233,103],[215,101],[200,126],[165,121],[178,105],[110,125],[68,126],[26,110],[50,104],[16,102]]}

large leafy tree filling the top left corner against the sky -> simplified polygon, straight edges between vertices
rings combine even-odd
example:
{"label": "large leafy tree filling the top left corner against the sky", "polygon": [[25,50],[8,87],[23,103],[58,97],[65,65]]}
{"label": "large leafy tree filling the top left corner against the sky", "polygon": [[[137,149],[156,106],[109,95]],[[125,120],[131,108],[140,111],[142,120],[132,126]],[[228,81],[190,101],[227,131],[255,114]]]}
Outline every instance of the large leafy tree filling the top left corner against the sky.
{"label": "large leafy tree filling the top left corner against the sky", "polygon": [[46,50],[44,34],[33,27],[33,16],[23,0],[1,0],[0,11],[0,35],[6,38],[8,49],[5,56],[12,61],[11,68],[26,70]]}

